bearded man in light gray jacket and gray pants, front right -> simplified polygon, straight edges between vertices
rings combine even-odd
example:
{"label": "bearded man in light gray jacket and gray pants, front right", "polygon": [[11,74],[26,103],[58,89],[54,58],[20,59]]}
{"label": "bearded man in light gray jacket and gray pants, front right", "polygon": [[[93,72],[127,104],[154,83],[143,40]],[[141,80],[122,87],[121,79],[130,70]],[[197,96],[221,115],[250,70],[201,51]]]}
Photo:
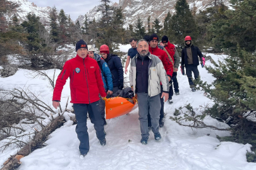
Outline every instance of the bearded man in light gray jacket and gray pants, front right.
{"label": "bearded man in light gray jacket and gray pants, front right", "polygon": [[160,82],[162,82],[162,96],[167,101],[169,96],[169,80],[159,57],[150,54],[149,44],[145,40],[140,40],[137,45],[138,54],[131,60],[129,79],[131,89],[138,96],[138,120],[140,120],[140,132],[142,139],[140,142],[147,144],[149,139],[148,118],[150,114],[152,132],[155,140],[161,140],[159,133],[159,118],[161,102],[159,98]]}

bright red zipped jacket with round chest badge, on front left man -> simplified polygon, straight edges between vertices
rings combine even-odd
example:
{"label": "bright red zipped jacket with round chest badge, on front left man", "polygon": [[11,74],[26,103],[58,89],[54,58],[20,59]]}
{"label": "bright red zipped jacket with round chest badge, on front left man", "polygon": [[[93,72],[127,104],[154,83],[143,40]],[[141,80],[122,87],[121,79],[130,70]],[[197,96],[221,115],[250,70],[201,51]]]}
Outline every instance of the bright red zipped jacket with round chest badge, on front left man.
{"label": "bright red zipped jacket with round chest badge, on front left man", "polygon": [[97,61],[85,57],[82,59],[78,55],[65,62],[61,74],[59,74],[53,91],[52,100],[61,100],[66,79],[70,77],[71,103],[93,103],[101,96],[106,96],[104,84],[101,78],[101,69]]}

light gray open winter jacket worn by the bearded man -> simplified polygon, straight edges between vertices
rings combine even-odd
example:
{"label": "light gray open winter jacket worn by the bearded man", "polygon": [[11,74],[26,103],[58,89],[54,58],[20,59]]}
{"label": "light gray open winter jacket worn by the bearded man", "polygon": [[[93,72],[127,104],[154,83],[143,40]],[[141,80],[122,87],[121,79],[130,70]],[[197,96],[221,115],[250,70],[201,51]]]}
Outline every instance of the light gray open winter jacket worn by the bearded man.
{"label": "light gray open winter jacket worn by the bearded man", "polygon": [[[130,86],[133,86],[133,92],[136,89],[136,63],[138,54],[133,57],[130,63],[129,79]],[[163,91],[169,91],[169,81],[164,65],[159,57],[150,54],[149,55],[149,88],[148,94],[150,97],[155,96],[161,92],[160,83],[162,82]]]}

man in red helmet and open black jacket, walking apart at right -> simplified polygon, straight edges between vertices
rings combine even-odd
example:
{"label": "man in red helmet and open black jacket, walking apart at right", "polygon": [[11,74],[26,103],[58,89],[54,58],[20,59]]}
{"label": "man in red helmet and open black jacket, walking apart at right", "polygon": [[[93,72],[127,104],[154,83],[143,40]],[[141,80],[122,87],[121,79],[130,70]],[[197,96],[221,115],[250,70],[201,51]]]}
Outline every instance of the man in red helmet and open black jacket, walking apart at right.
{"label": "man in red helmet and open black jacket, walking apart at right", "polygon": [[186,67],[186,76],[188,76],[188,82],[190,84],[190,88],[193,92],[195,92],[195,85],[193,83],[192,72],[195,76],[195,79],[199,77],[199,71],[197,69],[197,65],[199,65],[198,56],[200,57],[200,64],[204,67],[203,55],[199,48],[192,44],[192,38],[190,36],[185,37],[185,48],[181,51],[181,71],[183,75],[184,66]]}

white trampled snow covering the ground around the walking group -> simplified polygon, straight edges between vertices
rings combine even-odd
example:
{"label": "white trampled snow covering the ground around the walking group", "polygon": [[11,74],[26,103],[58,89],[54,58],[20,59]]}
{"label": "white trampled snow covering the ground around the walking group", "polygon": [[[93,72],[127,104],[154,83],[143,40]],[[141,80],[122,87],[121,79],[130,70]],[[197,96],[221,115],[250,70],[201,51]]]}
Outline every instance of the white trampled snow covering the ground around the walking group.
{"label": "white trampled snow covering the ground around the walking group", "polygon": [[[130,46],[121,47],[127,51]],[[211,55],[212,59],[222,59],[221,55]],[[209,61],[205,63],[210,65]],[[214,81],[205,68],[198,67],[201,79],[207,82]],[[29,72],[19,69],[11,77],[0,77],[1,88],[13,89],[16,87],[29,87],[30,91],[40,93],[40,98],[51,105],[52,89],[47,79],[31,79]],[[56,72],[56,75],[60,71]],[[53,71],[47,71],[53,76]],[[138,121],[138,109],[130,114],[107,120],[106,140],[107,145],[102,147],[96,137],[94,127],[88,120],[88,133],[90,137],[90,151],[87,156],[80,158],[78,150],[79,140],[76,137],[73,122],[68,121],[61,128],[55,130],[46,141],[47,146],[37,149],[32,154],[21,159],[22,170],[82,170],[82,169],[230,169],[252,170],[256,169],[255,163],[249,163],[246,159],[247,151],[250,152],[250,144],[237,144],[235,142],[220,142],[216,135],[226,136],[229,132],[210,130],[209,128],[195,129],[183,127],[169,119],[173,116],[175,108],[191,103],[194,108],[200,105],[212,103],[204,96],[203,91],[192,92],[186,76],[178,71],[180,95],[174,94],[172,105],[165,103],[164,112],[166,119],[164,127],[160,129],[162,140],[156,142],[154,134],[150,132],[147,145],[140,144],[140,123]],[[69,80],[64,86],[61,99],[62,106],[66,104],[70,95]],[[53,108],[53,107],[52,107]],[[71,109],[71,103],[68,105]],[[195,110],[196,114],[200,114]],[[71,113],[67,113],[72,115]],[[66,117],[68,118],[68,115]],[[225,123],[207,117],[205,123],[219,128],[228,127]],[[18,149],[9,147],[0,153],[0,164],[8,159]]]}

